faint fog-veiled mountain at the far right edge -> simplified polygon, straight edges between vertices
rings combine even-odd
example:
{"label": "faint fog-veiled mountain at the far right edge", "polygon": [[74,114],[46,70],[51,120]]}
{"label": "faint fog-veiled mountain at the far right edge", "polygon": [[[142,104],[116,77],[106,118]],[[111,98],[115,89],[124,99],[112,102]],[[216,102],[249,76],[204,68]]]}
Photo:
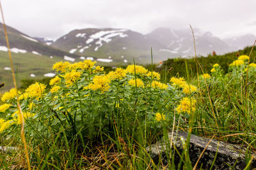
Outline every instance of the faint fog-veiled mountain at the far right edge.
{"label": "faint fog-veiled mountain at the far right edge", "polygon": [[246,46],[252,46],[256,36],[253,34],[244,34],[232,38],[225,38],[223,41],[227,43],[233,50],[241,50]]}

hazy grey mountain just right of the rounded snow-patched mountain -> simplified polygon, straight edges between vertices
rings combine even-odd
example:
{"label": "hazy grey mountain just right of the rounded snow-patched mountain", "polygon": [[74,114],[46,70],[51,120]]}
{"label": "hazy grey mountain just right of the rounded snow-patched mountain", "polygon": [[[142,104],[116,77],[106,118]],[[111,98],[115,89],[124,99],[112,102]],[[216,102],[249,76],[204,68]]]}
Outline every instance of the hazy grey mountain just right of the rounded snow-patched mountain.
{"label": "hazy grey mountain just right of the rounded snow-patched mountain", "polygon": [[[198,55],[205,56],[213,51],[220,54],[230,52],[231,48],[211,32],[200,29],[193,29],[193,31]],[[158,28],[146,36],[166,45],[166,49],[160,50],[169,52],[172,56],[189,57],[195,55],[191,29]]]}

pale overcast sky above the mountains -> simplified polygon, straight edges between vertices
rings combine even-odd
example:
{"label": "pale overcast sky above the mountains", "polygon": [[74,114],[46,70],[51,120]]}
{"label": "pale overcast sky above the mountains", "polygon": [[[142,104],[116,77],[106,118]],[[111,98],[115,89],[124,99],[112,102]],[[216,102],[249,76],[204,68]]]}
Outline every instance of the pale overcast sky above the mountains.
{"label": "pale overcast sky above the mountains", "polygon": [[59,38],[74,29],[115,27],[143,34],[189,28],[220,38],[256,35],[255,0],[2,0],[5,22],[29,36]]}

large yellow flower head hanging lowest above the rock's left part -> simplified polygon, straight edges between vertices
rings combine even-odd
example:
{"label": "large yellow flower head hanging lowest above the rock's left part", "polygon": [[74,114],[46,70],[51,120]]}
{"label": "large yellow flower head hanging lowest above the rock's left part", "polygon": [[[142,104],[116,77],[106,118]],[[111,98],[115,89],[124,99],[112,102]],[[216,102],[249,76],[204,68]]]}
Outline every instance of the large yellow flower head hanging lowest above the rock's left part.
{"label": "large yellow flower head hanging lowest above the rock's left part", "polygon": [[189,97],[184,97],[181,101],[179,106],[177,106],[176,111],[180,112],[187,112],[191,113],[191,111],[196,110],[196,100],[190,99]]}

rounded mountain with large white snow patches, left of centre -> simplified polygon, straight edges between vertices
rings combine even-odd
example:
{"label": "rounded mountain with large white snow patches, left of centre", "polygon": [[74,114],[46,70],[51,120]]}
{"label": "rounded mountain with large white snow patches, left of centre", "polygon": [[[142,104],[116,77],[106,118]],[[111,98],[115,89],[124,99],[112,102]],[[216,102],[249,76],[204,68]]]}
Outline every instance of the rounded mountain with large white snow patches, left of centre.
{"label": "rounded mountain with large white snow patches, left of centre", "polygon": [[133,62],[133,57],[136,62],[150,62],[152,46],[157,52],[154,53],[155,61],[166,59],[160,57],[158,52],[166,48],[165,45],[129,29],[76,29],[54,41],[51,46],[76,55],[121,64]]}

